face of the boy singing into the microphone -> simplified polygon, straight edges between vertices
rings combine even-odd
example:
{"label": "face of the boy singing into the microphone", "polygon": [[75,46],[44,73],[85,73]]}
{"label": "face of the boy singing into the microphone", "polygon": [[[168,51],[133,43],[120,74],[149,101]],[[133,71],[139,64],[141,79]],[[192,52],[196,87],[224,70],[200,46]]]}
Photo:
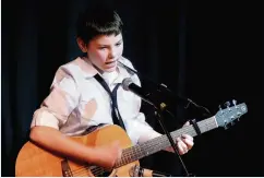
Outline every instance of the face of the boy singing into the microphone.
{"label": "face of the boy singing into the microphone", "polygon": [[99,35],[87,46],[88,59],[104,72],[112,72],[123,52],[122,34]]}

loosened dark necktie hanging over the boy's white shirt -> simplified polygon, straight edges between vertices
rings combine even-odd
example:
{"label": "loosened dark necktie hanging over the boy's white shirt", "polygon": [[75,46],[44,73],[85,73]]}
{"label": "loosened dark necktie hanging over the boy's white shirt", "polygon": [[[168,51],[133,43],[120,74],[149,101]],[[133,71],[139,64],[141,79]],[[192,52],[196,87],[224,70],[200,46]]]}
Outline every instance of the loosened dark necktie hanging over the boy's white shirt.
{"label": "loosened dark necktie hanging over the boy's white shirt", "polygon": [[121,128],[123,128],[123,130],[125,130],[123,120],[118,109],[118,100],[117,100],[117,91],[121,83],[118,83],[115,86],[113,91],[111,92],[106,81],[98,73],[94,78],[97,80],[97,82],[100,83],[100,85],[106,90],[106,92],[109,94],[111,98],[111,117],[112,117],[113,123],[120,126]]}

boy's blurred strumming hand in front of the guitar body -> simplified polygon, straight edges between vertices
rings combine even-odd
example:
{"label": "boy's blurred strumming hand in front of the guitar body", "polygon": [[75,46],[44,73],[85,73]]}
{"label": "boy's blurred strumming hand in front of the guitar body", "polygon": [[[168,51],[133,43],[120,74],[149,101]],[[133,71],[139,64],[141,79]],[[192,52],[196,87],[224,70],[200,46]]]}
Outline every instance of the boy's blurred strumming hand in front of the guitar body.
{"label": "boy's blurred strumming hand in front of the guitar body", "polygon": [[96,146],[95,153],[95,165],[106,169],[112,169],[116,162],[121,158],[122,149],[120,147],[119,141],[116,141],[110,145]]}

